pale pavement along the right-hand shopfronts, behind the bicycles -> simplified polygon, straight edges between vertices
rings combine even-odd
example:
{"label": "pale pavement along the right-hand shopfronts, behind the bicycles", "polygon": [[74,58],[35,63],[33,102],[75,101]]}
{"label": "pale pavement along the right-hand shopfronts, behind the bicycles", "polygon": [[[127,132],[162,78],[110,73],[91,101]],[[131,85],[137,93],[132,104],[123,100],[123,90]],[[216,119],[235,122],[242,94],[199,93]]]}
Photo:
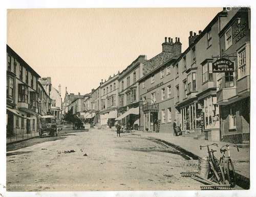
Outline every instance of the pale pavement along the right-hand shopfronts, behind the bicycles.
{"label": "pale pavement along the right-hand shopfronts, behind the bicycles", "polygon": [[[215,156],[216,158],[219,159],[221,157],[220,147],[227,144],[227,142],[220,142],[220,141],[210,142],[202,139],[193,139],[193,138],[183,137],[183,136],[174,136],[173,134],[169,134],[169,133],[155,133],[155,132],[143,132],[143,131],[136,131],[135,133],[138,133],[141,136],[157,138],[157,139],[164,140],[168,143],[175,144],[181,147],[182,149],[184,149],[185,151],[190,152],[195,156],[198,156],[199,158],[204,158],[205,156],[208,156],[207,147],[202,147],[202,150],[200,150],[200,145],[217,143],[219,147],[216,147],[216,146],[210,146],[210,147],[213,150],[217,150],[217,152],[215,152]],[[234,169],[237,173],[237,177],[242,179],[241,184],[243,184],[243,187],[248,188],[248,184],[249,184],[248,182],[250,179],[250,149],[249,147],[244,147],[243,149],[239,149],[239,152],[234,146],[230,146],[229,149],[230,149],[230,156],[234,165]]]}

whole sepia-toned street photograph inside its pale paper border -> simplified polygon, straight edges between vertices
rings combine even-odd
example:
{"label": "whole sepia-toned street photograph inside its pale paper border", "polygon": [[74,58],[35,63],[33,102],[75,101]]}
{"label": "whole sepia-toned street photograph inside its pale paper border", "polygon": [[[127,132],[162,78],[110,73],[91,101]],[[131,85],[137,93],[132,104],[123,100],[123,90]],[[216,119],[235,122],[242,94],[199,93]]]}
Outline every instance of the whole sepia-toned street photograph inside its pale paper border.
{"label": "whole sepia-toned street photograph inside its pale paper border", "polygon": [[7,191],[250,188],[249,8],[8,10],[6,59]]}

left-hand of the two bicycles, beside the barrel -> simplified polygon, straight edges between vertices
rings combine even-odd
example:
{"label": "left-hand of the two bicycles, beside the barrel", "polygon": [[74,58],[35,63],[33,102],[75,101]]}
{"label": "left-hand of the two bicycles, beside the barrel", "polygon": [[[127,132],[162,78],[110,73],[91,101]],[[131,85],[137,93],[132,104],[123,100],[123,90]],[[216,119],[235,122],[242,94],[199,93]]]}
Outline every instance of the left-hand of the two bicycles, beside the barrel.
{"label": "left-hand of the two bicycles, beside the barrel", "polygon": [[213,172],[213,173],[211,173],[212,176],[210,177],[210,180],[214,179],[214,177],[215,177],[219,184],[224,183],[222,168],[219,165],[218,159],[214,156],[214,152],[217,152],[217,151],[212,150],[212,149],[210,150],[209,146],[211,146],[211,145],[215,145],[215,146],[219,147],[217,143],[207,144],[207,145],[204,145],[204,146],[200,145],[200,150],[202,150],[202,147],[207,146],[207,151],[208,151],[208,155],[209,155],[207,157],[207,160],[208,160],[208,163],[210,165],[210,169]]}

